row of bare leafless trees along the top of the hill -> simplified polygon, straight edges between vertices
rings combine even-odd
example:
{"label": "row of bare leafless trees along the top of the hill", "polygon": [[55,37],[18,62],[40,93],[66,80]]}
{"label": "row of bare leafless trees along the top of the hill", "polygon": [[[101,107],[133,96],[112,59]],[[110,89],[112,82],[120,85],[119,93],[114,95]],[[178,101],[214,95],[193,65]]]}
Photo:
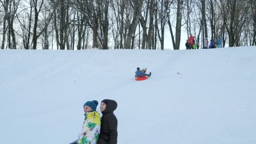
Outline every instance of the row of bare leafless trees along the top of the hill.
{"label": "row of bare leafless trees along the top of the hill", "polygon": [[170,32],[256,45],[256,0],[0,0],[1,49],[161,49]]}

